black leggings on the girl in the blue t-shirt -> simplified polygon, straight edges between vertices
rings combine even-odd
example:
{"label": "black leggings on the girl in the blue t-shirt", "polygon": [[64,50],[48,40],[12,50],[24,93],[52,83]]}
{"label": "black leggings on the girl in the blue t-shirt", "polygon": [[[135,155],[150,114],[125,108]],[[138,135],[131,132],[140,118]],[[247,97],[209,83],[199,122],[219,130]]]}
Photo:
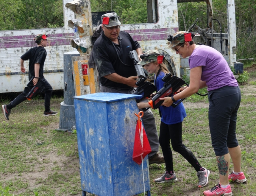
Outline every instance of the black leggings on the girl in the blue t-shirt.
{"label": "black leggings on the girl in the blue t-shirt", "polygon": [[165,159],[166,171],[173,171],[173,153],[170,146],[170,139],[173,150],[180,153],[198,172],[201,169],[200,163],[194,154],[182,143],[182,122],[173,125],[160,124],[159,143]]}

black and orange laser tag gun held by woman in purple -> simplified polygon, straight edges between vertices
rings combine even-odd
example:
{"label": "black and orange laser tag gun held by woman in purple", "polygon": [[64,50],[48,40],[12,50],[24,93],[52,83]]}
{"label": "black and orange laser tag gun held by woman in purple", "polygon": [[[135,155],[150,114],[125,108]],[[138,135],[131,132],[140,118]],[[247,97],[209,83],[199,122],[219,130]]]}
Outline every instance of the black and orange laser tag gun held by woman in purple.
{"label": "black and orange laser tag gun held by woman in purple", "polygon": [[[182,87],[185,84],[184,80],[178,78],[177,76],[172,76],[171,73],[166,74],[162,78],[162,80],[163,82],[165,82],[163,84],[163,88],[161,88],[156,93],[156,95],[152,97],[152,99],[148,102],[153,109],[157,109],[163,103],[163,100],[160,100],[160,98],[173,96],[174,94],[176,94],[176,91],[178,91],[178,89],[180,89],[180,87]],[[173,103],[172,106],[176,107],[184,99],[181,99],[178,103]]]}

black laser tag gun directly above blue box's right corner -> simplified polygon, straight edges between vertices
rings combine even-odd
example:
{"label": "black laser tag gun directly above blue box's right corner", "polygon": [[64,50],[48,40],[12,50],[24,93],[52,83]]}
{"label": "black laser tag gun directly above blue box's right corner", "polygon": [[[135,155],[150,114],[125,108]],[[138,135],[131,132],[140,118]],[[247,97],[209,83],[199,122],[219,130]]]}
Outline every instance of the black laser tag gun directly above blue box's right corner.
{"label": "black laser tag gun directly above blue box's right corner", "polygon": [[154,93],[156,91],[156,87],[154,84],[146,81],[147,78],[144,76],[140,75],[139,76],[139,81],[137,81],[135,84],[137,85],[137,89],[134,93],[132,94],[140,94],[142,95],[142,98],[135,98],[136,102],[139,103],[141,100],[145,98],[149,98],[150,94]]}

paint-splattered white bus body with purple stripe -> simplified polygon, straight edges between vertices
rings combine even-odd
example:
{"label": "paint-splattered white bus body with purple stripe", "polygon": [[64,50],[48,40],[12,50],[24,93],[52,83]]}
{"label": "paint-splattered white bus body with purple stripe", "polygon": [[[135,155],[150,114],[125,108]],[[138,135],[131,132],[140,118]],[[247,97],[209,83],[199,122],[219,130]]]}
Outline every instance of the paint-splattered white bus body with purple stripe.
{"label": "paint-splattered white bus body with purple stripe", "polygon": [[[202,0],[152,0],[148,7],[147,24],[121,25],[121,30],[131,34],[137,40],[143,51],[157,49],[166,55],[168,68],[180,77],[180,56],[168,49],[167,37],[178,31],[178,5],[177,2],[198,2]],[[210,4],[211,0],[205,0]],[[73,30],[68,26],[68,20],[74,19],[74,13],[65,7],[70,0],[63,0],[64,27],[50,29],[26,29],[13,31],[0,31],[0,93],[21,92],[28,83],[28,74],[20,71],[20,56],[31,47],[36,46],[33,38],[36,34],[46,33],[50,38],[50,44],[46,47],[44,76],[54,90],[64,89],[63,84],[63,54],[76,51],[71,47]],[[226,36],[228,44],[224,47],[228,54],[228,62],[233,66],[236,55],[233,49],[236,47],[235,9],[234,0],[227,0],[228,7],[228,31]],[[156,6],[157,5],[157,6]],[[151,8],[150,8],[151,7]],[[209,11],[208,10],[208,11]],[[210,20],[208,18],[208,20]],[[150,22],[151,21],[151,22]],[[211,22],[211,21],[210,21]],[[96,28],[96,26],[94,27]],[[229,47],[229,45],[231,47]],[[223,54],[225,56],[225,54]],[[186,60],[182,60],[187,64]],[[25,62],[28,71],[28,61]],[[72,66],[72,65],[70,65]]]}

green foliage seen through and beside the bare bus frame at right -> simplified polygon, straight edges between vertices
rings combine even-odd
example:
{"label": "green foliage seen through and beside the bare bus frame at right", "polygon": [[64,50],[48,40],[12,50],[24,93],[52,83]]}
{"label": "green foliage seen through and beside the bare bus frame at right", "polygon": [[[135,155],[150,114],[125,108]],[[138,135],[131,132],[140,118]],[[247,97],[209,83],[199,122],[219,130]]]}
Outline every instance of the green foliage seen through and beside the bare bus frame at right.
{"label": "green foliage seen through and beside the bare bus frame at right", "polygon": [[[227,28],[226,1],[212,0],[213,18],[222,26],[222,32]],[[236,40],[237,59],[256,58],[256,4],[255,0],[235,0],[236,9]],[[178,4],[179,30],[186,31],[198,18],[197,25],[202,29],[208,27],[206,2],[190,2]],[[220,33],[219,24],[214,21],[213,29]]]}

